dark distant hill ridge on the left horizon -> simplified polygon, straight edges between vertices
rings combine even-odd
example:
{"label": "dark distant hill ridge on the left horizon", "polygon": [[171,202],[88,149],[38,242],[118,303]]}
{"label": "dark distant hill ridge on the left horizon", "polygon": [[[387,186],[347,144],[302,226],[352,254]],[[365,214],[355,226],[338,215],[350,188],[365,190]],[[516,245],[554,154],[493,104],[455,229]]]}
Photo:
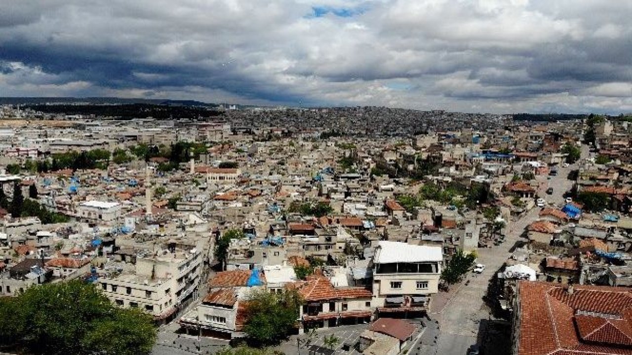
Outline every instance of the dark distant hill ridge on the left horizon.
{"label": "dark distant hill ridge on the left horizon", "polygon": [[218,104],[195,100],[165,99],[123,99],[120,97],[0,97],[0,105],[46,105],[46,104],[83,104],[83,105],[129,105],[149,104],[168,106],[218,107]]}

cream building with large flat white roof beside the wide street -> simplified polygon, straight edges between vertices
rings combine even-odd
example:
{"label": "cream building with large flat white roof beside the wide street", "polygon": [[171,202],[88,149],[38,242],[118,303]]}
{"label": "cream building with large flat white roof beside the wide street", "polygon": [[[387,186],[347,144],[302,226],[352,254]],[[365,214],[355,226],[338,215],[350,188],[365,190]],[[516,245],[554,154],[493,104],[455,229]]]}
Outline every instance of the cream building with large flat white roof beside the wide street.
{"label": "cream building with large flat white roof beside the wide street", "polygon": [[372,306],[379,313],[423,313],[439,292],[440,246],[380,241],[373,258]]}

